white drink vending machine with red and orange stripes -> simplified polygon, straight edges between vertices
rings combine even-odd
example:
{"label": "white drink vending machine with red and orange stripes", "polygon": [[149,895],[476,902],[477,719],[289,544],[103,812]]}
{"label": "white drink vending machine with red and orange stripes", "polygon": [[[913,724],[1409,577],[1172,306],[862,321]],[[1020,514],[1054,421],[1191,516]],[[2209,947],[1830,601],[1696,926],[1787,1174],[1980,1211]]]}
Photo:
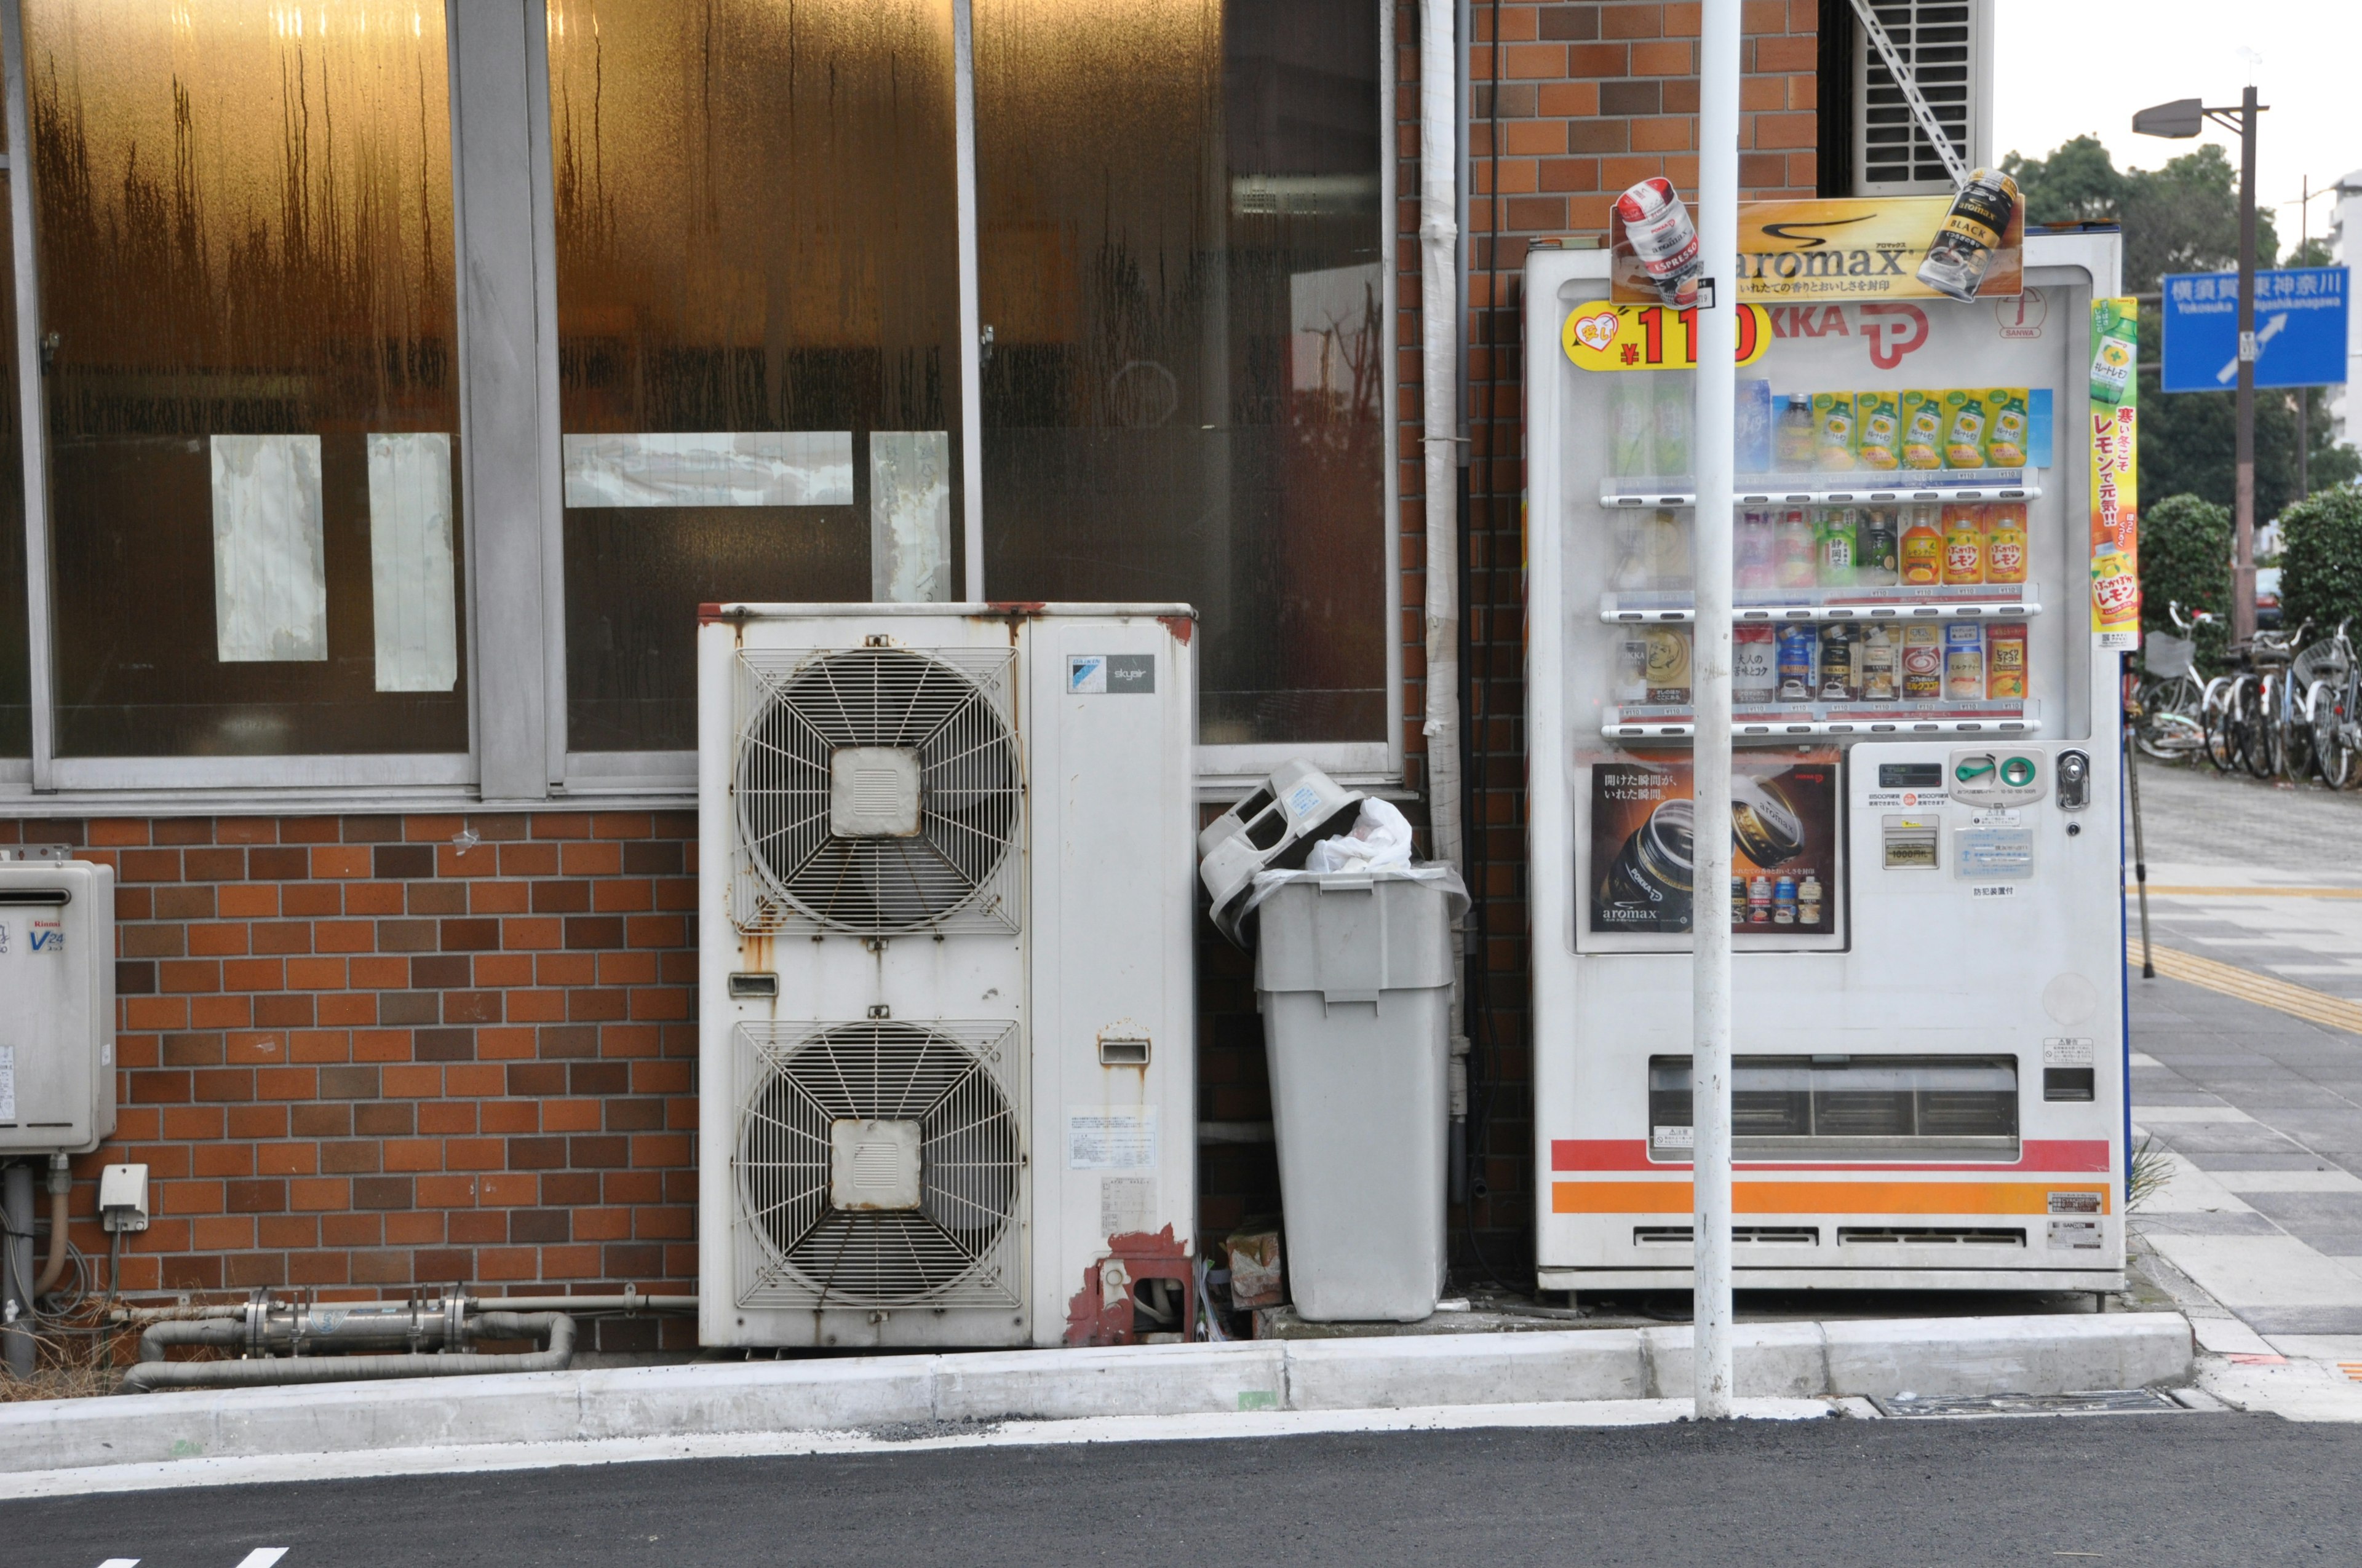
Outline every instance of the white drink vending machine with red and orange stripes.
{"label": "white drink vending machine with red and orange stripes", "polygon": [[1741,1289],[2123,1287],[2119,241],[2012,227],[1958,300],[1913,283],[1944,203],[1868,205],[1741,213],[1729,888],[1691,881],[1694,316],[1613,250],[1526,262],[1545,1289],[1691,1282],[1701,919]]}

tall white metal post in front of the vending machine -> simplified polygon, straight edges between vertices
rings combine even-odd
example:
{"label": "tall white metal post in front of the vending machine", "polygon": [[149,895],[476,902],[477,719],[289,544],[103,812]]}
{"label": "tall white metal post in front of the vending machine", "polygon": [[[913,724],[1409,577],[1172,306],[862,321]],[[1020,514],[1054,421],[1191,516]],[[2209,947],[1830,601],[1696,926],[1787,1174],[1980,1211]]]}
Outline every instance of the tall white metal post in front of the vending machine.
{"label": "tall white metal post in front of the vending machine", "polygon": [[1731,1415],[1731,406],[1738,392],[1738,0],[1698,31],[1696,838],[1691,874],[1691,1181],[1696,1412]]}

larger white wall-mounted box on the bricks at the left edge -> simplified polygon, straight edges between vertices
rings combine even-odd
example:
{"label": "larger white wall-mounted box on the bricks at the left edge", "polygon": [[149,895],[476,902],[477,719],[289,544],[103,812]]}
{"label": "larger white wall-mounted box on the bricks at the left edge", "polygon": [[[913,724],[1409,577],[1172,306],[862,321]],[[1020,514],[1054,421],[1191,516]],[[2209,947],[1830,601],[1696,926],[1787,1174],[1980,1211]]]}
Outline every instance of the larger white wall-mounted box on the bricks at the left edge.
{"label": "larger white wall-mounted box on the bricks at the left edge", "polygon": [[0,1155],[116,1131],[116,869],[0,860]]}

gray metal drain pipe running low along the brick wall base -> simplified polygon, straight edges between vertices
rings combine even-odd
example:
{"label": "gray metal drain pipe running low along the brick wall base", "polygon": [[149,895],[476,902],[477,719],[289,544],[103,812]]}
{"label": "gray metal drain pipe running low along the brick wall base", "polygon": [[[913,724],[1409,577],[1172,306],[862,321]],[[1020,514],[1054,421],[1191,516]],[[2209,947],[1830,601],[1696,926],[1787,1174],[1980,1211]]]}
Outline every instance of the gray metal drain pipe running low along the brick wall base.
{"label": "gray metal drain pipe running low along the brick wall base", "polygon": [[[456,1301],[456,1299],[454,1299]],[[267,1313],[279,1318],[279,1313]],[[328,1318],[333,1313],[319,1313]],[[220,1348],[248,1346],[253,1348],[257,1327],[255,1313],[241,1322],[236,1318],[205,1318],[196,1322],[158,1322],[146,1334],[139,1337],[139,1365],[123,1374],[123,1386],[116,1393],[154,1393],[156,1389],[267,1389],[279,1384],[364,1384],[383,1381],[397,1377],[489,1377],[498,1372],[562,1372],[567,1363],[574,1360],[574,1320],[565,1313],[477,1313],[458,1327],[456,1337],[449,1325],[458,1313],[428,1313],[420,1308],[416,1315],[406,1315],[409,1322],[394,1327],[392,1322],[368,1325],[380,1334],[376,1344],[385,1344],[385,1334],[399,1334],[411,1339],[442,1339],[444,1344],[465,1341],[470,1334],[484,1339],[543,1339],[548,1348],[529,1351],[522,1355],[454,1355],[454,1353],[420,1353],[409,1355],[250,1355],[246,1360],[163,1360],[165,1346],[175,1344],[210,1344]],[[293,1313],[288,1313],[293,1318]],[[350,1313],[347,1313],[350,1318]],[[432,1327],[430,1327],[432,1325]],[[371,1344],[359,1329],[338,1332],[342,1325],[324,1325],[309,1334],[312,1344]],[[269,1344],[279,1344],[283,1334],[286,1344],[302,1344],[293,1334],[293,1325],[265,1322],[260,1337]]]}

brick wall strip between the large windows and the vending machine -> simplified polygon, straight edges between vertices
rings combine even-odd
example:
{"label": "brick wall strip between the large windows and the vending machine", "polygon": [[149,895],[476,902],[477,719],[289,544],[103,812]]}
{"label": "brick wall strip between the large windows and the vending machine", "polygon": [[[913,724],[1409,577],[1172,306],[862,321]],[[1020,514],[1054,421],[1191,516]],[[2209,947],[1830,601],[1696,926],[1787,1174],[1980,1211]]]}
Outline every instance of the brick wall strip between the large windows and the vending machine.
{"label": "brick wall strip between the large windows and the vending machine", "polygon": [[[1462,517],[1469,541],[1464,727],[1469,734],[1469,886],[1483,923],[1483,985],[1474,992],[1472,1091],[1488,1190],[1453,1216],[1455,1263],[1531,1282],[1533,1096],[1531,921],[1526,907],[1523,734],[1523,300],[1519,274],[1535,239],[1601,239],[1616,196],[1653,175],[1684,194],[1698,184],[1698,7],[1535,5],[1479,0],[1469,52],[1469,463]],[[1417,647],[1424,600],[1424,475],[1420,390],[1420,12],[1396,7],[1398,165],[1396,262],[1403,484],[1405,635]],[[1819,0],[1746,0],[1738,179],[1743,196],[1812,196]],[[1498,128],[1498,132],[1495,132]],[[1420,779],[1424,694],[1410,659],[1408,744]],[[1472,1131],[1474,1136],[1474,1131]]]}

